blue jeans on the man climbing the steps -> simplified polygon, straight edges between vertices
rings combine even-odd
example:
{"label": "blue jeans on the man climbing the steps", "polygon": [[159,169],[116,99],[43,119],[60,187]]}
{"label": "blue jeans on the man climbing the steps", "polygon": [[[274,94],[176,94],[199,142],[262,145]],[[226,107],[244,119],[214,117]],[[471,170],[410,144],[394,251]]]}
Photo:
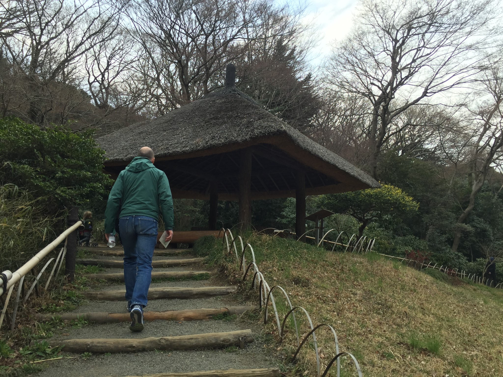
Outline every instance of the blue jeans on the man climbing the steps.
{"label": "blue jeans on the man climbing the steps", "polygon": [[152,256],[157,242],[157,220],[147,216],[121,217],[119,228],[124,247],[126,300],[131,306],[147,306]]}

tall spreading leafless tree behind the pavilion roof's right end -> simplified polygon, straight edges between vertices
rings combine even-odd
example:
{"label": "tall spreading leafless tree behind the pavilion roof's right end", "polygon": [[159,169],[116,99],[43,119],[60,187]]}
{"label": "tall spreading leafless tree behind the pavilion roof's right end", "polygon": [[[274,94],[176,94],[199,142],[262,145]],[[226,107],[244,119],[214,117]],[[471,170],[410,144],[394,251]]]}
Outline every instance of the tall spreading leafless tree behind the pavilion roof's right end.
{"label": "tall spreading leafless tree behind the pavilion roof's right end", "polygon": [[491,0],[364,0],[356,27],[333,50],[326,70],[332,85],[371,105],[370,170],[389,127],[412,106],[440,102],[440,93],[466,85],[487,47]]}

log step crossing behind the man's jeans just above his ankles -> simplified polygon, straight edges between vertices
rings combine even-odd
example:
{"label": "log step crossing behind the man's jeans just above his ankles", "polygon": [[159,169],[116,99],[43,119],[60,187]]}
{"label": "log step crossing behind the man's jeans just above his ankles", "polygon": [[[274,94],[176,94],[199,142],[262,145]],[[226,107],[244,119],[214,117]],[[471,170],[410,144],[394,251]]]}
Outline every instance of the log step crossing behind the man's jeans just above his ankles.
{"label": "log step crossing behind the man's jeans just above his ankles", "polygon": [[[150,288],[147,298],[158,299],[197,299],[201,297],[226,296],[236,292],[236,287],[159,287]],[[88,300],[126,301],[126,290],[83,292],[82,295]]]}

